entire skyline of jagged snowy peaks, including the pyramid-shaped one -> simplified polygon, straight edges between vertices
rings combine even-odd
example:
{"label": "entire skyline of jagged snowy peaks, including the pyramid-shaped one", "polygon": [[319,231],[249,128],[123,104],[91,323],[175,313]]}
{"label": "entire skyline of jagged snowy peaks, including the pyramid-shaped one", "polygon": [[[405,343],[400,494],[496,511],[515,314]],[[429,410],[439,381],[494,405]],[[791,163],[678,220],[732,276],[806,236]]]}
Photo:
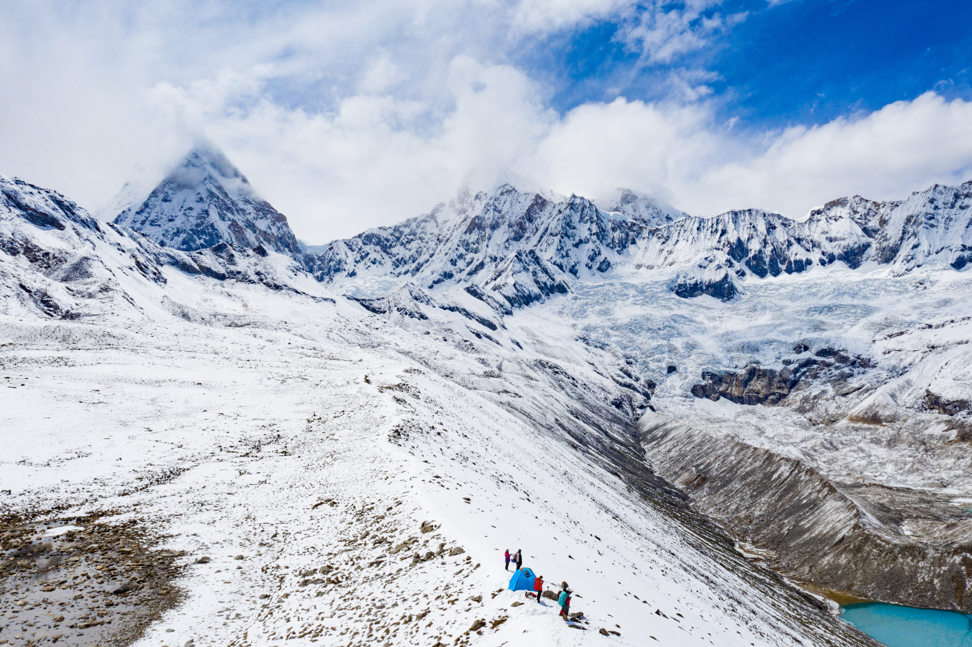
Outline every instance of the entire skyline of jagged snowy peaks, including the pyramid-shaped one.
{"label": "entire skyline of jagged snowy peaks, including the pyramid-shaped one", "polygon": [[201,147],[116,222],[183,251],[264,245],[359,296],[403,281],[427,289],[475,285],[522,307],[625,267],[671,274],[679,296],[722,299],[745,289],[747,277],[838,261],[851,269],[875,261],[897,276],[926,262],[958,269],[972,259],[970,205],[966,183],[889,202],[839,198],[804,221],[759,209],[692,217],[628,189],[595,202],[504,169],[491,181],[468,178],[427,215],[306,246],[223,153]]}

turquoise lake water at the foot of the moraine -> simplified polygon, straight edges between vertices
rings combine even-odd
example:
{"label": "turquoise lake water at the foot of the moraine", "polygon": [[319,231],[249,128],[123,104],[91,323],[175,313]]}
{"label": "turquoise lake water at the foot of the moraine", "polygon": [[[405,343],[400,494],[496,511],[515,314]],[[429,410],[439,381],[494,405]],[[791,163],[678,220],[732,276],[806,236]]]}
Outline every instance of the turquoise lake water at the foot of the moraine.
{"label": "turquoise lake water at the foot of the moraine", "polygon": [[957,611],[863,602],[841,618],[887,647],[972,647],[972,616]]}

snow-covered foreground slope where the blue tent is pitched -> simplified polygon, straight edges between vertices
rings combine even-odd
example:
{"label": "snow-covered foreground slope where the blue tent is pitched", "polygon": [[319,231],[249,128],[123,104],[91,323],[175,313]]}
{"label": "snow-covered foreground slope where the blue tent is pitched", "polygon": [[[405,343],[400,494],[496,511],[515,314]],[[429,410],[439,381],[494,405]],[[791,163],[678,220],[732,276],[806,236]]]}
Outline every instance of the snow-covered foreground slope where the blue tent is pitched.
{"label": "snow-covered foreground slope where the blue tent is pitched", "polygon": [[[4,182],[0,496],[187,552],[141,644],[872,644],[645,467],[650,386],[571,322],[466,289],[348,299],[291,256],[172,251]],[[587,620],[504,591],[503,548]]]}

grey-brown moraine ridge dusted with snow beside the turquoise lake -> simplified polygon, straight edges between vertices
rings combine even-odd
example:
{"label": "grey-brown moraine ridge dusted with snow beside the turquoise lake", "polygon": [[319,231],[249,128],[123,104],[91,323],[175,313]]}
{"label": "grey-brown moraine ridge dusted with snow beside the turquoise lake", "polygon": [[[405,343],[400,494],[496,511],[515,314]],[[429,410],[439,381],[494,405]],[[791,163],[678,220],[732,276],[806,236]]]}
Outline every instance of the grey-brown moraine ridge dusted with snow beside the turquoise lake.
{"label": "grey-brown moraine ridge dusted with snow beside the turquoise lake", "polygon": [[[972,519],[950,497],[837,484],[801,460],[646,413],[658,474],[771,565],[823,589],[972,611]],[[906,534],[904,527],[918,528]]]}

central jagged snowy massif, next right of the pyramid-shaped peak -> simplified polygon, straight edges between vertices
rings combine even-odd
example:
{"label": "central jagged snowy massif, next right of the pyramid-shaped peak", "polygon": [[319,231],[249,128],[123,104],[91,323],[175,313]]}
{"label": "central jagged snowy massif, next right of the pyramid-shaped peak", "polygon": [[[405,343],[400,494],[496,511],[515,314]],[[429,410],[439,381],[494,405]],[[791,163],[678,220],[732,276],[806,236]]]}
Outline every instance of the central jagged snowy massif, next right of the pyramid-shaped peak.
{"label": "central jagged snowy massif, next right of the pyramid-shaped peak", "polygon": [[489,192],[466,189],[426,216],[334,241],[307,265],[329,285],[476,285],[520,307],[604,274],[647,226],[583,197],[503,183]]}

